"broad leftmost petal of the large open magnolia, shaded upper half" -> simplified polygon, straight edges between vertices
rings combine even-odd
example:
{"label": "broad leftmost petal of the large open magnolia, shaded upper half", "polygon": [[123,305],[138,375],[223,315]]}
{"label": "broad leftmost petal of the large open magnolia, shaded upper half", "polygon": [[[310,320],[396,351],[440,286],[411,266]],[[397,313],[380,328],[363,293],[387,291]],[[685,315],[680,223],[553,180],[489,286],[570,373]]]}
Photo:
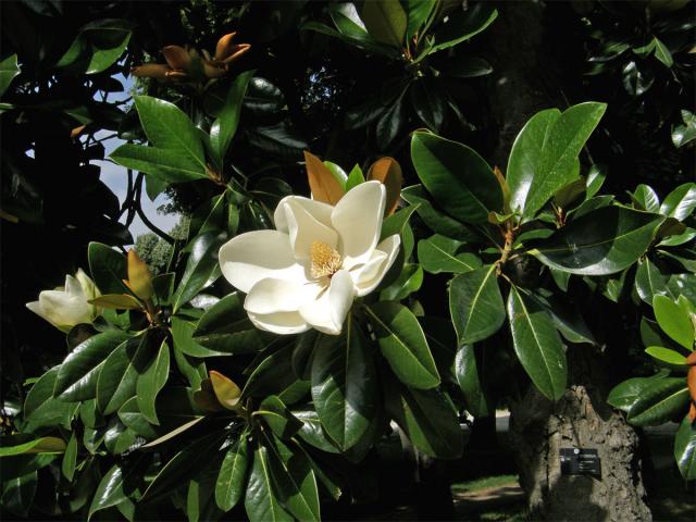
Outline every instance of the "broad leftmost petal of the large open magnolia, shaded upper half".
{"label": "broad leftmost petal of the large open magnolia, shaded upper half", "polygon": [[235,288],[248,293],[266,277],[306,281],[297,264],[290,238],[277,231],[253,231],[232,238],[220,248],[222,274]]}

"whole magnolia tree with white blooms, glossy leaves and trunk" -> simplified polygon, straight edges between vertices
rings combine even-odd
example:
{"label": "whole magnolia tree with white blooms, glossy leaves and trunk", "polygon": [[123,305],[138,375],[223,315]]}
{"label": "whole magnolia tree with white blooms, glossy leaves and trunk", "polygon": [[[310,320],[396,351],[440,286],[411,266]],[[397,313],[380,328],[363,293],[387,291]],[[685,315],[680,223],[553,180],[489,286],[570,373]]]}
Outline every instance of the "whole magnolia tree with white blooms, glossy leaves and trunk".
{"label": "whole magnolia tree with white blooms, glossy leaves and trunk", "polygon": [[[3,508],[62,519],[319,520],[371,498],[369,456],[388,437],[398,433],[418,462],[457,461],[462,413],[486,418],[506,402],[526,444],[515,451],[536,514],[648,520],[627,423],[679,420],[675,461],[685,480],[696,476],[696,185],[662,201],[647,185],[604,192],[606,171],[583,157],[602,102],[532,115],[504,170],[440,136],[449,117],[465,127],[445,78],[490,67],[437,53],[457,58],[459,44],[495,21],[488,4],[339,3],[323,15],[302,14],[302,35],[407,71],[349,110],[344,130],[410,151],[341,166],[304,150],[304,176],[273,177],[265,156],[289,154],[295,165],[307,144],[291,133],[281,89],[258,69],[235,69],[256,44],[227,33],[214,52],[166,42],[166,64],[134,63],[133,75],[151,83],[133,97],[119,128],[127,142],[109,157],[127,173],[121,214],[147,220],[141,194],[165,189],[195,195],[196,210],[181,239],[153,227],[172,245],[157,275],[135,249],[113,247],[127,240],[95,236],[64,287],[26,302],[36,324],[65,334],[67,352],[13,396],[0,447]],[[142,57],[128,48],[136,23],[88,24],[53,65],[108,76],[124,52]],[[28,85],[14,79],[22,66],[16,55],[2,62],[0,94],[13,80]],[[32,114],[30,96],[3,109]],[[94,117],[83,125],[97,126]],[[73,139],[84,132],[73,128]],[[2,216],[25,220],[20,203]],[[446,285],[423,286],[436,274]],[[663,370],[611,393],[587,387],[604,352],[618,349],[593,316],[598,300],[645,315],[642,340]],[[431,310],[434,301],[449,315]],[[574,432],[562,418],[581,410],[589,427]],[[527,430],[531,417],[540,428]],[[602,480],[561,476],[562,444],[596,448]],[[551,494],[586,486],[574,502]]]}

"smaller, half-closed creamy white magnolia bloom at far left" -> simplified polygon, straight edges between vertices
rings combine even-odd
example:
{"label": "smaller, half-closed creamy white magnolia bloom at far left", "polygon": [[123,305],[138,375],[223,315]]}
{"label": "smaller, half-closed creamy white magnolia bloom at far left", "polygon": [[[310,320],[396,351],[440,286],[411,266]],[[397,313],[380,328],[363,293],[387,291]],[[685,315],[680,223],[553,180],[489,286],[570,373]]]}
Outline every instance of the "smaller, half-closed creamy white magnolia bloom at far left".
{"label": "smaller, half-closed creamy white magnolia bloom at far left", "polygon": [[91,323],[98,315],[97,307],[87,302],[99,296],[99,290],[82,269],[75,276],[65,276],[65,286],[44,290],[39,300],[27,302],[26,308],[57,328],[70,331],[79,323]]}

